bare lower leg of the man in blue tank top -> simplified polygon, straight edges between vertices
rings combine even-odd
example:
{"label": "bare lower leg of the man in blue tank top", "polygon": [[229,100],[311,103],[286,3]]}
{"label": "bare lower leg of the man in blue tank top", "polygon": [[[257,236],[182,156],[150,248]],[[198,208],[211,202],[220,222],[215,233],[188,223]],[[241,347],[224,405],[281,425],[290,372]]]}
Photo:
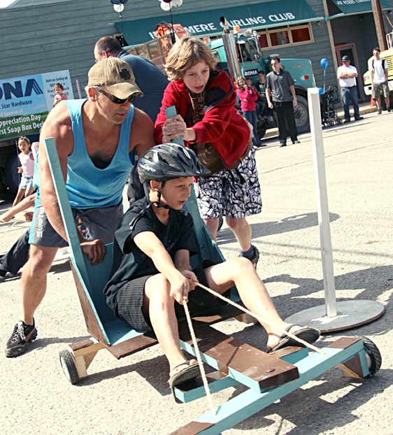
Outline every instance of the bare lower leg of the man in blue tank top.
{"label": "bare lower leg of the man in blue tank top", "polygon": [[47,273],[55,258],[57,248],[30,245],[29,261],[22,272],[22,320],[33,325],[34,312],[46,292]]}

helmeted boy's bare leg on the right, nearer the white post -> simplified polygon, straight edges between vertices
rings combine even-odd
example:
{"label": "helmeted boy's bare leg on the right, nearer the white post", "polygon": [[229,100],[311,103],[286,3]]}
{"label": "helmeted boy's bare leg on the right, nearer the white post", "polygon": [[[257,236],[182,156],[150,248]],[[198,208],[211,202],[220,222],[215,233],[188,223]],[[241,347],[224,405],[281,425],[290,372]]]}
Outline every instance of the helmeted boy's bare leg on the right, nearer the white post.
{"label": "helmeted boy's bare leg on the right, nearer the white post", "polygon": [[[236,285],[243,304],[252,312],[264,319],[261,325],[269,334],[266,346],[273,348],[280,340],[283,330],[289,326],[278,315],[273,301],[264,283],[257,276],[253,264],[239,257],[216,264],[205,269],[208,285],[212,290],[222,294],[232,285]],[[296,329],[294,329],[296,331]]]}

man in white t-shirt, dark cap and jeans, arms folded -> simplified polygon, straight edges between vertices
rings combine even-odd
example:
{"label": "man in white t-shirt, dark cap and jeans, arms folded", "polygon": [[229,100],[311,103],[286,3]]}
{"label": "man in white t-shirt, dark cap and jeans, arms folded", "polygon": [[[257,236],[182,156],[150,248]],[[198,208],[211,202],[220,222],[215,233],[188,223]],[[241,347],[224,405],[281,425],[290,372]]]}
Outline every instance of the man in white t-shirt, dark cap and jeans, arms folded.
{"label": "man in white t-shirt, dark cap and jeans, arms folded", "polygon": [[338,66],[337,78],[341,86],[341,94],[344,103],[344,123],[350,122],[350,101],[352,101],[355,121],[362,120],[363,117],[359,114],[359,104],[357,104],[357,69],[350,65],[350,58],[343,56],[343,65]]}

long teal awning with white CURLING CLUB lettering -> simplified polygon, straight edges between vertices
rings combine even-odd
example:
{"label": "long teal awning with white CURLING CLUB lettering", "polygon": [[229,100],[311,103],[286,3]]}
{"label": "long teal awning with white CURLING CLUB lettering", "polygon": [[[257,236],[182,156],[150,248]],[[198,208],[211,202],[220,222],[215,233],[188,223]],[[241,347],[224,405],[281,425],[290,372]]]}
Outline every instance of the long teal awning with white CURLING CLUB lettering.
{"label": "long teal awning with white CURLING CLUB lettering", "polygon": [[[227,18],[230,26],[239,25],[241,29],[255,30],[324,20],[324,17],[315,15],[306,0],[267,1],[190,13],[178,13],[178,10],[173,9],[172,15],[173,24],[181,24],[189,34],[197,37],[222,34],[222,16]],[[115,24],[129,45],[138,45],[155,38],[155,27],[160,21],[169,21],[169,13]]]}

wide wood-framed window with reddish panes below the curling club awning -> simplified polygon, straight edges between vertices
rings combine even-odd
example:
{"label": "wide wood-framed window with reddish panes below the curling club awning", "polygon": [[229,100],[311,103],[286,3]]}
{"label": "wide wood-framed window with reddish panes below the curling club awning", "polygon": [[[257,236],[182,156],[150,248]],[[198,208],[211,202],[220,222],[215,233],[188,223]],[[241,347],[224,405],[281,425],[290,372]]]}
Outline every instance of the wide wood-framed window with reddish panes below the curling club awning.
{"label": "wide wood-framed window with reddish panes below the curling club awning", "polygon": [[311,24],[292,25],[271,30],[258,31],[261,48],[280,47],[282,45],[300,45],[313,42]]}

